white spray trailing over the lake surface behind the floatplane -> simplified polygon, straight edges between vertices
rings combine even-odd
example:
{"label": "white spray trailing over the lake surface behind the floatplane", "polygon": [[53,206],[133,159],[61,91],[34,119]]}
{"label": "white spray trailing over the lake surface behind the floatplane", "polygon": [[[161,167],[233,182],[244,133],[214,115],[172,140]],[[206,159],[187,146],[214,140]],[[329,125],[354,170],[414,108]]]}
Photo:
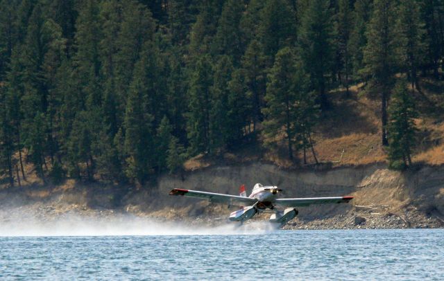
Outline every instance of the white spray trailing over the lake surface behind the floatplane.
{"label": "white spray trailing over the lake surface behind the floatplane", "polygon": [[0,221],[1,237],[17,236],[124,236],[124,235],[257,235],[270,233],[276,226],[267,221],[253,221],[243,226],[222,223],[219,226],[190,226],[172,221],[112,215],[108,217],[64,214],[41,219],[23,213],[13,219]]}

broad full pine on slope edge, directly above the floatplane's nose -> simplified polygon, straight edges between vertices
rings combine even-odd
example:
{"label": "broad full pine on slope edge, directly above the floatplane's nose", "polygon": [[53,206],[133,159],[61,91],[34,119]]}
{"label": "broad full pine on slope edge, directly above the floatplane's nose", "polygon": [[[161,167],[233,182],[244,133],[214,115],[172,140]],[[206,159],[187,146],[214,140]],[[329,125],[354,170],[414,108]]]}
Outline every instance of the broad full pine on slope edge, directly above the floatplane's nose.
{"label": "broad full pine on slope edge, directly above the floatplane's nose", "polygon": [[266,136],[276,136],[281,131],[284,133],[291,161],[298,129],[296,101],[302,86],[302,68],[295,62],[295,55],[289,47],[276,54],[275,63],[268,74],[267,106],[263,109],[266,116],[264,133]]}

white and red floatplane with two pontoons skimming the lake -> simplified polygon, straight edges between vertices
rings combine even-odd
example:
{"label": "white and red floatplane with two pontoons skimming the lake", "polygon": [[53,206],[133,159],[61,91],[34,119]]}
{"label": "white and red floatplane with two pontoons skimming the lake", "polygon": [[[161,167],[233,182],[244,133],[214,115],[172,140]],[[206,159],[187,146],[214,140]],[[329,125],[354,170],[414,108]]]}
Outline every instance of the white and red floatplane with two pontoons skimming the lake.
{"label": "white and red floatplane with two pontoons skimming the lake", "polygon": [[[277,186],[264,186],[256,183],[250,196],[246,196],[245,185],[241,185],[240,194],[229,195],[198,190],[186,190],[174,188],[170,195],[195,197],[207,199],[211,202],[228,203],[228,206],[241,206],[239,210],[230,214],[230,221],[243,223],[251,219],[259,212],[272,212],[269,221],[278,224],[287,224],[288,221],[298,215],[297,207],[305,207],[314,204],[348,203],[353,197],[314,197],[314,198],[278,198],[282,192]],[[246,206],[246,207],[244,207]]]}

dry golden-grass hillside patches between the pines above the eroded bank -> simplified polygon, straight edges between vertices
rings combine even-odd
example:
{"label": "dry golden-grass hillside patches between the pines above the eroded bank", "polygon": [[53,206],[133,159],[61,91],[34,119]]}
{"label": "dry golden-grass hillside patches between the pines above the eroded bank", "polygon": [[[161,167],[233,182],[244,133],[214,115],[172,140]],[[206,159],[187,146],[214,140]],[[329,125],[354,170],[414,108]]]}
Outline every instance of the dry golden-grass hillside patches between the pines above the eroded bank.
{"label": "dry golden-grass hillside patches between the pines above the eroded bank", "polygon": [[[416,119],[418,143],[413,152],[417,165],[444,164],[444,82],[423,78],[421,92],[412,91],[418,102],[420,117]],[[381,145],[380,102],[368,98],[362,84],[350,87],[350,97],[345,98],[344,89],[330,91],[328,98],[332,109],[325,112],[321,123],[314,129],[314,149],[318,161],[325,167],[359,166],[387,163],[387,149]],[[203,155],[192,158],[185,167],[195,170],[220,163],[245,163],[263,161],[279,167],[305,167],[302,152],[295,162],[288,161],[282,136],[276,136],[271,147],[263,147],[260,134],[255,141],[239,145],[239,149],[226,152],[220,158]],[[310,153],[309,163],[314,163]],[[342,156],[342,157],[341,157]],[[309,165],[308,167],[314,167]]]}

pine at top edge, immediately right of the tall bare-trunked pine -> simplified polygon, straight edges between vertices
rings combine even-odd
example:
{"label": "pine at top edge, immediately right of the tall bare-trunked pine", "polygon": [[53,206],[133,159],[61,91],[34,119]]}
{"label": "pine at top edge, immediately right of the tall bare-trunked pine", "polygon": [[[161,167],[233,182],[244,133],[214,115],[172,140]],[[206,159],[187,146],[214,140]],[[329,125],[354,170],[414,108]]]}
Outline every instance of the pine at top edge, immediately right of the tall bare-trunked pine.
{"label": "pine at top edge, immediately right of the tall bare-trunked pine", "polygon": [[400,53],[405,71],[409,74],[411,86],[419,88],[418,66],[425,51],[422,38],[425,30],[420,19],[420,10],[414,0],[401,1],[399,6],[398,32],[400,35]]}

